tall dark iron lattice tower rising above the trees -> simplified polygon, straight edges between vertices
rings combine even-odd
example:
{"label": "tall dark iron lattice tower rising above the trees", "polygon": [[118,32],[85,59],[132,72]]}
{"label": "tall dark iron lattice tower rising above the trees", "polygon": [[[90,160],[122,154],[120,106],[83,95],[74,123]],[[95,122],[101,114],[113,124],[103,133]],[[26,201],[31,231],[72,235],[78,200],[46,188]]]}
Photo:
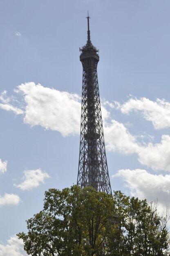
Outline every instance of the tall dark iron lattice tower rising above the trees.
{"label": "tall dark iron lattice tower rising above the trees", "polygon": [[89,16],[87,17],[87,43],[80,51],[83,65],[80,155],[77,185],[93,186],[97,191],[112,194],[101,116],[98,89],[98,50],[90,40]]}

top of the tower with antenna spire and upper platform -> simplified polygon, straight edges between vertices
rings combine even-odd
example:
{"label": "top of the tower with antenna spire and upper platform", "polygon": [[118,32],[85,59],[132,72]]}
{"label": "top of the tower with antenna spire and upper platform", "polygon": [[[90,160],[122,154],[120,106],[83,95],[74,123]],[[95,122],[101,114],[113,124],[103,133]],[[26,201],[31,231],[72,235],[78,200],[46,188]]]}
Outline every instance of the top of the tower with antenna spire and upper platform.
{"label": "top of the tower with antenna spire and upper platform", "polygon": [[92,42],[90,40],[90,30],[89,30],[89,13],[87,18],[87,25],[88,25],[88,30],[87,30],[87,43],[85,46],[83,46],[82,48],[80,48],[81,51],[81,55],[80,55],[80,60],[82,61],[85,58],[95,58],[96,61],[99,61],[99,56],[97,54],[98,50],[96,49],[96,47],[94,47],[94,45],[92,45]]}

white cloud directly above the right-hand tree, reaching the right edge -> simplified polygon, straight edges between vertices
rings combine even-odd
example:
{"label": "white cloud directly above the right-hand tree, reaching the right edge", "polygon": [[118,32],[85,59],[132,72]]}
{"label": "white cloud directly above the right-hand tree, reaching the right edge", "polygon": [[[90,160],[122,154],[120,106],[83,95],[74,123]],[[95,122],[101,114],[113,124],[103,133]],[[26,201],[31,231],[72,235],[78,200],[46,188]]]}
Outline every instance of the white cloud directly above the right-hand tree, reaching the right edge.
{"label": "white cloud directly above the right-hand tree, reaching the right edge", "polygon": [[142,169],[122,169],[112,177],[121,177],[133,196],[148,200],[158,198],[161,204],[170,205],[170,175],[153,175]]}

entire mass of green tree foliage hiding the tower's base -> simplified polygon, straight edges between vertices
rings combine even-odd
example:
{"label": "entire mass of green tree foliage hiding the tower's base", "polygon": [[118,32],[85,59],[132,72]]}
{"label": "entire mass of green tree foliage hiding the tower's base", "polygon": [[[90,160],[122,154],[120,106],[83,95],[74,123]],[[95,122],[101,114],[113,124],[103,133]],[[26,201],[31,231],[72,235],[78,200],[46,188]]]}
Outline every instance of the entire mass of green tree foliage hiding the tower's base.
{"label": "entire mass of green tree foliage hiding the tower's base", "polygon": [[75,185],[46,191],[43,210],[17,236],[31,256],[169,256],[166,224],[153,202]]}

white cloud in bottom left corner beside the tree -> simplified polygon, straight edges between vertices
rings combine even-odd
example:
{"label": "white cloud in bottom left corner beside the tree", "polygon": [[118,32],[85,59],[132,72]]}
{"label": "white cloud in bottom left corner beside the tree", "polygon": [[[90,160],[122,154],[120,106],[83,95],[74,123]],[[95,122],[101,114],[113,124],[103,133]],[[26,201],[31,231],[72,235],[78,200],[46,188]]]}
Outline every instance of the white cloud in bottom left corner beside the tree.
{"label": "white cloud in bottom left corner beside the tree", "polygon": [[16,235],[11,236],[7,245],[0,244],[0,256],[28,256],[24,251],[24,243]]}

